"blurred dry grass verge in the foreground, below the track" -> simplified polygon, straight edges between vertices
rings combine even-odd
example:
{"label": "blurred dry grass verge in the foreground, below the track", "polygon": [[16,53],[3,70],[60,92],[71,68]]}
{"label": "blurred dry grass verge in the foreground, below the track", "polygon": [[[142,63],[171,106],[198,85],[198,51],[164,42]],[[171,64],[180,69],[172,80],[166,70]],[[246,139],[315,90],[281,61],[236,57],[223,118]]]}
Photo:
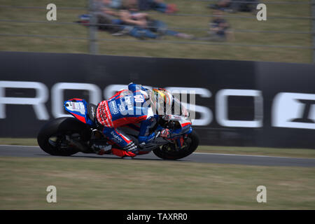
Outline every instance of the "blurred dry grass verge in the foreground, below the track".
{"label": "blurred dry grass verge in the foreground, below the track", "polygon": [[[314,168],[0,158],[0,209],[315,209]],[[267,203],[258,203],[258,186]],[[57,203],[46,188],[57,188]]]}

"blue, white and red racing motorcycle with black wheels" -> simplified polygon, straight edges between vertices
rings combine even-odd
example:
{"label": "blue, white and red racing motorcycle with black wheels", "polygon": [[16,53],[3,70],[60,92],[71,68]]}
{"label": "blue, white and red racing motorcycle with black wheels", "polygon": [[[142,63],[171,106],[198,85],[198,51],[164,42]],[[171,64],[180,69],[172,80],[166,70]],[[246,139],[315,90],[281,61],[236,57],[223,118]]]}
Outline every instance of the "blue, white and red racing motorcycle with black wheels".
{"label": "blue, white and red racing motorcycle with black wheels", "polygon": [[[186,110],[181,104],[181,108]],[[64,109],[73,117],[56,118],[46,123],[38,133],[38,146],[50,155],[69,156],[81,153],[96,153],[99,155],[112,154],[111,148],[119,147],[113,141],[106,139],[102,134],[103,126],[97,122],[94,104],[87,104],[84,99],[69,99],[64,102]],[[181,110],[181,111],[183,111]],[[158,137],[156,128],[161,125],[169,130],[181,132],[167,139]],[[163,160],[179,160],[193,153],[198,144],[199,137],[192,131],[191,121],[187,113],[179,116],[169,115],[167,119],[160,118],[149,129],[149,134],[157,132],[157,138],[148,144],[139,144],[137,125],[119,127],[137,144],[139,155],[153,151]],[[187,128],[186,128],[187,127]],[[180,144],[179,144],[180,143]]]}

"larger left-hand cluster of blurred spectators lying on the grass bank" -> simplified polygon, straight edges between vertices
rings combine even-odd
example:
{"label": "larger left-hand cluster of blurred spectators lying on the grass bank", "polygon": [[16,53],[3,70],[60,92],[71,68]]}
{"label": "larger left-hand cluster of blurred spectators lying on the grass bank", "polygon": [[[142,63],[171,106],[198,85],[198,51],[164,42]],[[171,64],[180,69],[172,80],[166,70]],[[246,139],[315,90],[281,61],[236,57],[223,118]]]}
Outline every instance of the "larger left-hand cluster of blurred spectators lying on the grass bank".
{"label": "larger left-hand cluster of blurred spectators lying on the grass bank", "polygon": [[170,30],[165,22],[154,20],[144,10],[176,13],[176,5],[162,0],[95,0],[100,29],[113,36],[130,35],[136,38],[162,38],[165,35],[193,38],[192,35]]}

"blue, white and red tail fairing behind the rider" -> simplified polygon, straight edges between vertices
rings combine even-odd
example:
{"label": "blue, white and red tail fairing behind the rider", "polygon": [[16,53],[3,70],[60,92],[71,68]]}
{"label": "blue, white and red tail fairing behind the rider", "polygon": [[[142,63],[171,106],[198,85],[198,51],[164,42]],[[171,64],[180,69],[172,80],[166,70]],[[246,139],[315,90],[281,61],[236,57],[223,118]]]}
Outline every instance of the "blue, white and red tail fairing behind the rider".
{"label": "blue, white and red tail fairing behind the rider", "polygon": [[64,102],[64,109],[72,116],[87,125],[93,125],[87,111],[87,102],[84,99],[73,98]]}

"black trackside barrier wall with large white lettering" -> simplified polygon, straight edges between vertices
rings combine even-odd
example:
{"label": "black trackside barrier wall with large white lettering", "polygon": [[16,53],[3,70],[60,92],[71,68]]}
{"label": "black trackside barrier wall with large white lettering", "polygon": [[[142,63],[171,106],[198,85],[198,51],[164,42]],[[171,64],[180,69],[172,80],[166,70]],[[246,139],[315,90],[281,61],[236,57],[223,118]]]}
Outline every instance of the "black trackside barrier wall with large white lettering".
{"label": "black trackside barrier wall with large white lettering", "polygon": [[0,137],[36,137],[64,100],[97,104],[133,82],[195,91],[202,144],[315,148],[311,64],[30,52],[0,64]]}

